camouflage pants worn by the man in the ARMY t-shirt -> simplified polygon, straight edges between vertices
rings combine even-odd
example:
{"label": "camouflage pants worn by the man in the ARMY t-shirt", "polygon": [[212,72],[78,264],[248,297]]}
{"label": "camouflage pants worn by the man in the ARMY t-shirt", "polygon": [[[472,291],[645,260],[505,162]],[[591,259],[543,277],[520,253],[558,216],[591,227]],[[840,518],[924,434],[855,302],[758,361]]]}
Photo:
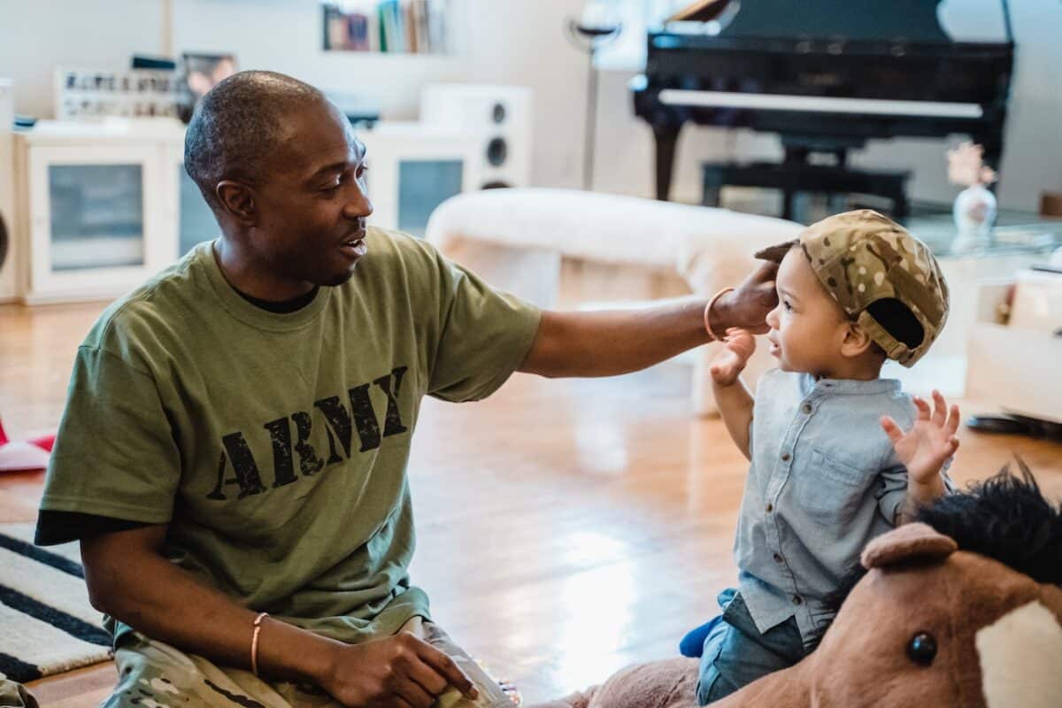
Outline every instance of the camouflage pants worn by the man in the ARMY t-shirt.
{"label": "camouflage pants worn by the man in the ARMY t-shirt", "polygon": [[[468,701],[449,689],[438,708],[513,708],[513,703],[480,667],[435,624],[415,617],[401,628],[450,656],[479,689]],[[126,635],[115,651],[118,686],[101,708],[335,708],[340,704],[319,687],[266,681],[250,671],[218,667],[139,633]]]}

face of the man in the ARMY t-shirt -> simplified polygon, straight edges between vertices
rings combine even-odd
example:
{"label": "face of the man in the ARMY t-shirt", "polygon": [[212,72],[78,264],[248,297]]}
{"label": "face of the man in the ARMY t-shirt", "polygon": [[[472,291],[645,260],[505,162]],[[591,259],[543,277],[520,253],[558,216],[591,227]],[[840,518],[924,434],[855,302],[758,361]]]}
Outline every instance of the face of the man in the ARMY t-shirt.
{"label": "face of the man in the ARMY t-shirt", "polygon": [[286,279],[338,286],[365,255],[365,149],[331,104],[284,119],[285,139],[258,175],[255,257]]}

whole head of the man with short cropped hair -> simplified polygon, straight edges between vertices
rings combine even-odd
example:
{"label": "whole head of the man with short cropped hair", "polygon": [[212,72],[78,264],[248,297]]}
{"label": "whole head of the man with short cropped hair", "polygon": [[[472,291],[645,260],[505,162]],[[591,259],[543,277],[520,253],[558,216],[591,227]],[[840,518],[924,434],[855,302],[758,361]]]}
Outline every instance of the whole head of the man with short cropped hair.
{"label": "whole head of the man with short cropped hair", "polygon": [[365,253],[364,146],[308,84],[269,71],[219,83],[188,125],[185,169],[238,270],[277,293],[345,282]]}

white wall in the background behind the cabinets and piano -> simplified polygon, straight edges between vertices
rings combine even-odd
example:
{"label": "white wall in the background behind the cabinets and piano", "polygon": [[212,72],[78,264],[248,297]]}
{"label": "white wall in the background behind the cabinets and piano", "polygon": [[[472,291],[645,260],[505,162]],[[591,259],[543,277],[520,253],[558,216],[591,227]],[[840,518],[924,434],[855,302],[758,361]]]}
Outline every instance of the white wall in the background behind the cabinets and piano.
{"label": "white wall in the background behind the cabinets and piano", "polygon": [[[165,45],[162,7],[173,7],[175,51],[232,51],[241,68],[294,74],[326,91],[360,93],[384,117],[416,115],[421,85],[432,81],[510,83],[535,90],[532,182],[581,184],[586,57],[564,23],[582,0],[451,0],[459,56],[326,53],[320,49],[316,0],[0,0],[0,76],[16,82],[20,113],[51,115],[56,64],[125,66],[129,54]],[[1035,208],[1044,189],[1062,190],[1062,2],[1013,0],[1020,44],[1007,126],[1005,206]],[[949,30],[976,34],[998,25],[998,0],[945,0]],[[598,105],[596,188],[653,193],[653,140],[635,119],[627,87],[633,72],[603,71]],[[953,140],[954,142],[954,140]],[[912,169],[915,198],[949,201],[957,189],[944,171],[942,140],[872,143],[856,165]],[[687,126],[679,146],[672,194],[696,201],[704,159],[776,159],[773,136]]]}

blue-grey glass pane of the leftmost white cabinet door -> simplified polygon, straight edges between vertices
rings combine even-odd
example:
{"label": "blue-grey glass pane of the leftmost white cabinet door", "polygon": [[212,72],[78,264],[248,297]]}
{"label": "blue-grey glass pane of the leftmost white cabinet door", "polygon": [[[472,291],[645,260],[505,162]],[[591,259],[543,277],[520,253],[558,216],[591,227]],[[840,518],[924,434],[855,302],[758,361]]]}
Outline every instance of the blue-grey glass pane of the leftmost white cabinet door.
{"label": "blue-grey glass pane of the leftmost white cabinet door", "polygon": [[51,270],[144,264],[141,165],[49,165]]}

